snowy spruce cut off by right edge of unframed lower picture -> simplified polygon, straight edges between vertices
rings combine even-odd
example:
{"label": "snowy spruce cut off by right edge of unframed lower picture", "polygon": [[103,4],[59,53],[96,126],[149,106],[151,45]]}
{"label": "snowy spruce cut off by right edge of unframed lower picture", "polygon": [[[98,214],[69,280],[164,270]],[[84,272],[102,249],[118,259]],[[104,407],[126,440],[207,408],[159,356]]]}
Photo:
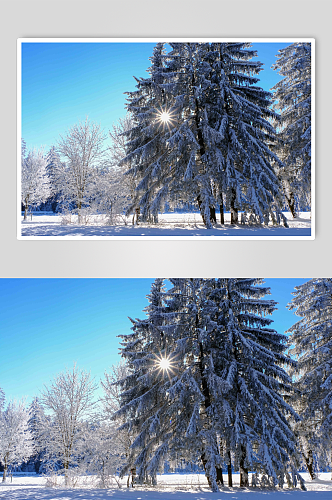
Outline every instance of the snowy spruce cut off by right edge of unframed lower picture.
{"label": "snowy spruce cut off by right edge of unframed lower picture", "polygon": [[332,279],[311,279],[293,295],[289,309],[301,317],[289,329],[290,353],[298,361],[294,405],[302,417],[296,432],[314,478],[315,455],[332,465]]}

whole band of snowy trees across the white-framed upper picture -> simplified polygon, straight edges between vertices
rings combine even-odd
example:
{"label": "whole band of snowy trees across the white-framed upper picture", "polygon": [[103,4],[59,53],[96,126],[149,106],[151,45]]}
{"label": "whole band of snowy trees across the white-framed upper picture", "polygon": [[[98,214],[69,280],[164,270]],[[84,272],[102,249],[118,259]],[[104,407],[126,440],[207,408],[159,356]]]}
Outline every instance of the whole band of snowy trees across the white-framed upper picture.
{"label": "whole band of snowy trees across the white-framed upper picture", "polygon": [[[88,120],[60,138],[47,157],[22,149],[22,203],[52,196],[61,210],[157,222],[166,208],[192,204],[207,228],[231,223],[287,225],[310,209],[311,44],[279,50],[283,77],[265,91],[250,43],[157,43],[148,78],[126,92],[128,115],[111,146]],[[44,158],[44,160],[43,160]],[[37,167],[39,165],[39,167]],[[240,215],[241,214],[241,215]]]}

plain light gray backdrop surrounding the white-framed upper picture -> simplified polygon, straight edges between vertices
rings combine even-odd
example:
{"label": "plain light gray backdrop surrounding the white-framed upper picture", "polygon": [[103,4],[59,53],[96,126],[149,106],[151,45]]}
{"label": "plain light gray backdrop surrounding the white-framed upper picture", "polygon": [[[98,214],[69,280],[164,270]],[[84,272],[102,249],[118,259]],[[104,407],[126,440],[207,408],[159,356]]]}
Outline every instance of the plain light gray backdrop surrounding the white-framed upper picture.
{"label": "plain light gray backdrop surrounding the white-framed upper picture", "polygon": [[[331,264],[330,0],[1,2],[0,277],[319,277]],[[23,37],[316,39],[314,241],[18,241],[16,40]]]}

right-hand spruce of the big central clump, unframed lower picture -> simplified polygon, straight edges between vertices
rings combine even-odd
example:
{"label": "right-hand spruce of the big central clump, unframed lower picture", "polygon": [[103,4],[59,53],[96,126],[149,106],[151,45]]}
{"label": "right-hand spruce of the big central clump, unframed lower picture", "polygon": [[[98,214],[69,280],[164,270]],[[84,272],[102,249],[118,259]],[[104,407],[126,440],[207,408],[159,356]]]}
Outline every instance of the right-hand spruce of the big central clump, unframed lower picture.
{"label": "right-hand spruce of the big central clump, unframed lower picture", "polygon": [[[267,315],[275,310],[261,279],[206,280],[203,288],[205,330],[216,332],[218,350],[213,362],[220,384],[218,432],[224,460],[240,470],[240,485],[296,485],[295,438],[287,417],[297,419],[286,399],[292,393],[284,366],[292,365],[284,351],[286,339],[269,328]],[[211,334],[210,334],[211,335]],[[211,382],[212,383],[212,380]],[[215,382],[214,382],[215,383]],[[230,467],[228,467],[228,470]],[[229,470],[230,472],[230,470]]]}

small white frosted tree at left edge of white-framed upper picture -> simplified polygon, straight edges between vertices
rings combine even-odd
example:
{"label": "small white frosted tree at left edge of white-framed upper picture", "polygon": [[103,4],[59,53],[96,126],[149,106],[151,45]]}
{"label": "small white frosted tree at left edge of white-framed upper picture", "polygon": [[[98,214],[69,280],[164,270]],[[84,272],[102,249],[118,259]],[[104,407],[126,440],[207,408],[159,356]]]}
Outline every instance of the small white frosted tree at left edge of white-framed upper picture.
{"label": "small white frosted tree at left edge of white-framed upper picture", "polygon": [[21,201],[24,205],[24,220],[28,210],[47,200],[51,193],[51,185],[46,171],[46,159],[43,151],[26,152],[26,145],[22,142],[22,170],[21,170]]}

